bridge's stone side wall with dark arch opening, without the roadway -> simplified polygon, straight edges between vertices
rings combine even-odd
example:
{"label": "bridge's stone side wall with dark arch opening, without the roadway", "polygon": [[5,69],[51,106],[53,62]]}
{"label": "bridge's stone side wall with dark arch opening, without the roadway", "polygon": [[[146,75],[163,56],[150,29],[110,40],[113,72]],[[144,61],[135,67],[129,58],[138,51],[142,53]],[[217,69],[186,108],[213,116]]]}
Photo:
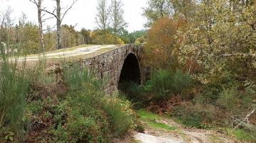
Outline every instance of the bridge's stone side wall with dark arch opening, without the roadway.
{"label": "bridge's stone side wall with dark arch opening, without the roadway", "polygon": [[142,47],[122,45],[95,57],[82,60],[83,67],[89,67],[100,79],[107,79],[106,91],[116,91],[122,81],[133,81],[141,84]]}

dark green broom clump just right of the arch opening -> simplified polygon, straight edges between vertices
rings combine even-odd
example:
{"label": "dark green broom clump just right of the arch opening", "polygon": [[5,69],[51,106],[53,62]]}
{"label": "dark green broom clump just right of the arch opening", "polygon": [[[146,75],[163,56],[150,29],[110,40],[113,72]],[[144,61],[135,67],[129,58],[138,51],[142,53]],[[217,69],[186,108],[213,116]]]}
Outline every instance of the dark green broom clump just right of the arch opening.
{"label": "dark green broom clump just right of the arch opening", "polygon": [[159,101],[166,101],[172,95],[183,95],[192,85],[192,79],[189,74],[182,71],[166,71],[160,69],[151,75],[151,79],[147,82],[146,91],[154,93],[154,98]]}

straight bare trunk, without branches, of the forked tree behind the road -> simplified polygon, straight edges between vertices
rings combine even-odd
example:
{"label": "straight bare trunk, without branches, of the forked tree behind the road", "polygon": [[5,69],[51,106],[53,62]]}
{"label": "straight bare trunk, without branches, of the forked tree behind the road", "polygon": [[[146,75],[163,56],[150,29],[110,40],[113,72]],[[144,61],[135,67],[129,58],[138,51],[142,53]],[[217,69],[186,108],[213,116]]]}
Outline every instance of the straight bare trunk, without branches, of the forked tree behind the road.
{"label": "straight bare trunk, without branches, of the forked tree behind the road", "polygon": [[56,0],[57,4],[57,49],[61,49],[61,17],[60,17],[60,0]]}

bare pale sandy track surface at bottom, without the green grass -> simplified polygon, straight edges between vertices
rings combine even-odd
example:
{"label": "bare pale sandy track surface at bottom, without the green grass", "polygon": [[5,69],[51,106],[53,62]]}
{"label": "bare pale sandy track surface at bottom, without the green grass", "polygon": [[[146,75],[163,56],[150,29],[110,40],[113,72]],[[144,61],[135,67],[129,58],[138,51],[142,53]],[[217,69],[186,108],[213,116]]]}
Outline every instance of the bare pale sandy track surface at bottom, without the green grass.
{"label": "bare pale sandy track surface at bottom, without the green grass", "polygon": [[[165,124],[177,127],[177,130],[155,130],[146,127],[144,133],[135,133],[134,139],[142,143],[236,143],[235,139],[214,130],[188,129],[171,119],[166,119]],[[145,122],[144,122],[145,124]]]}

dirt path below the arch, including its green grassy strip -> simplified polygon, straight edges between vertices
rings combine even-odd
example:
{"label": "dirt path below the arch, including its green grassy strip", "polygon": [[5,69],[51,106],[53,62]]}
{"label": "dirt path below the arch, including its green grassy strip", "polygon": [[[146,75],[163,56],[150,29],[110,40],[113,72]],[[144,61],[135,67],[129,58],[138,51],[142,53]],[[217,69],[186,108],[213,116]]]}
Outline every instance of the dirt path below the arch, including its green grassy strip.
{"label": "dirt path below the arch, including its green grassy strip", "polygon": [[214,130],[189,129],[183,127],[183,125],[174,122],[174,120],[170,118],[157,118],[156,116],[149,118],[142,117],[142,125],[145,127],[144,133],[137,132],[134,135],[134,139],[142,143],[238,142],[232,137],[220,134]]}

